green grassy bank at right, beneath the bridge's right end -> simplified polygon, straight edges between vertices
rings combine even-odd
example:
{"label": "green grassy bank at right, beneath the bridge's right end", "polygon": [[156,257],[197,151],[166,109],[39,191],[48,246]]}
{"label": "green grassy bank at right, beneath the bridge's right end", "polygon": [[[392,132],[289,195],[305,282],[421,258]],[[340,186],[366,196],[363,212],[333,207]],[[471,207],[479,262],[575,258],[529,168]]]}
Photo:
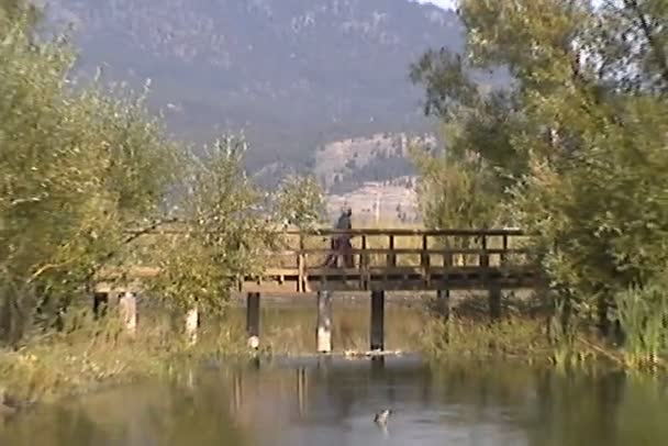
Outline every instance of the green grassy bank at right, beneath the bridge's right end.
{"label": "green grassy bank at right, beneath the bridge's right end", "polygon": [[486,302],[471,293],[456,296],[447,321],[431,317],[421,330],[420,350],[434,361],[501,357],[556,367],[601,363],[668,371],[666,352],[643,354],[616,345],[600,335],[592,317],[572,316],[564,332],[550,308],[534,296],[506,297],[499,321],[489,319]]}

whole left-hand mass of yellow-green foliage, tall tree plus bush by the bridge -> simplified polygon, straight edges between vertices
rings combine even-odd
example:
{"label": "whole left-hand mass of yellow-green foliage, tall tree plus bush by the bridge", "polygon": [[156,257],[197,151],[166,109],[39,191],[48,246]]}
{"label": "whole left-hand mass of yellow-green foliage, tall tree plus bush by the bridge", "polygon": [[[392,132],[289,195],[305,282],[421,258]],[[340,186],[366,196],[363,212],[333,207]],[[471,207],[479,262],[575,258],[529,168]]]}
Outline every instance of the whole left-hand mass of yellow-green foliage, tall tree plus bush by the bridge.
{"label": "whole left-hand mass of yellow-green foliage, tall tree plus bush by the bridge", "polygon": [[[243,169],[245,142],[188,156],[145,94],[76,85],[73,48],[30,33],[13,26],[0,40],[0,335],[16,343],[34,319],[62,326],[108,267],[160,267],[152,289],[164,302],[220,306],[275,243],[265,196]],[[316,197],[309,190],[300,199]],[[301,201],[279,212],[292,205],[312,215]],[[148,237],[175,225],[187,235]]]}

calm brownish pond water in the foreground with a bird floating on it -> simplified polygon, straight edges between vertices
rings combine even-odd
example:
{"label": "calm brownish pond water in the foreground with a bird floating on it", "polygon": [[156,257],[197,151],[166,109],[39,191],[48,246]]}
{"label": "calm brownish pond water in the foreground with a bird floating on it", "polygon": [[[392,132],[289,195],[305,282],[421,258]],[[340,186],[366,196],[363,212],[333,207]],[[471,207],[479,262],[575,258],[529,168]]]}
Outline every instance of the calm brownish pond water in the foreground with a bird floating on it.
{"label": "calm brownish pond water in the foreground with a bird floating on it", "polygon": [[[211,364],[41,406],[4,446],[665,445],[668,387],[620,372],[419,357]],[[394,411],[387,430],[372,422]]]}

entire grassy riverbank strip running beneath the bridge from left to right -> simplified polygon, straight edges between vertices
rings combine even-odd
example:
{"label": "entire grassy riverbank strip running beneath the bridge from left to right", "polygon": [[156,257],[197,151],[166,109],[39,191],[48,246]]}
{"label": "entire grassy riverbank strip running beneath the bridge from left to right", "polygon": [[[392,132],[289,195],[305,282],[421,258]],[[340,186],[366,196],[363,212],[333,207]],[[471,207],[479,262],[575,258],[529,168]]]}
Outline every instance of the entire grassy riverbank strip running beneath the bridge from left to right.
{"label": "entire grassy riverbank strip running beneath the bridge from left to right", "polygon": [[[36,402],[140,379],[165,378],[181,365],[207,359],[223,363],[260,357],[315,355],[315,305],[312,300],[263,300],[260,349],[249,352],[245,339],[245,310],[232,304],[225,316],[203,314],[198,343],[190,345],[181,327],[168,317],[140,312],[134,336],[114,317],[79,317],[63,333],[33,336],[16,350],[0,350],[0,390],[11,414]],[[560,342],[548,333],[547,311],[526,296],[505,297],[504,316],[490,322],[487,300],[471,293],[452,297],[447,322],[432,310],[428,297],[390,296],[386,308],[386,349],[419,353],[432,363],[503,359],[539,367],[589,365],[631,369],[624,353],[604,345],[583,331]],[[368,297],[334,303],[334,353],[355,358],[368,352],[370,311]],[[181,321],[177,321],[181,322]],[[76,325],[76,326],[75,326]],[[666,370],[657,358],[643,370]]]}

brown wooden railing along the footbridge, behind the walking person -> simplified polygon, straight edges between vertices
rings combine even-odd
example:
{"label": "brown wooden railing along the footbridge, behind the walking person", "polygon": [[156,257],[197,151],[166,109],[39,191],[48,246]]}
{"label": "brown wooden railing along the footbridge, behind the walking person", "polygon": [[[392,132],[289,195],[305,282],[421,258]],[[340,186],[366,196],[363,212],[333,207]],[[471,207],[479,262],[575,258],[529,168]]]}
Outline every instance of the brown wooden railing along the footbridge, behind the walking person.
{"label": "brown wooden railing along the footbridge, behind the walking person", "polygon": [[[155,235],[164,235],[156,232]],[[180,232],[170,232],[178,236]],[[347,265],[334,253],[332,239],[343,234],[352,237],[352,258]],[[448,270],[483,271],[486,269],[531,268],[526,244],[527,235],[516,230],[412,230],[412,228],[358,228],[350,231],[312,230],[278,231],[277,248],[266,253],[261,277],[246,277],[243,281],[267,282],[296,280],[307,283],[314,277],[348,276],[364,280],[372,275],[403,276],[446,274]],[[336,267],[326,267],[327,256],[337,255]],[[441,271],[442,270],[442,271]],[[102,282],[121,276],[143,280],[159,274],[151,266],[134,266],[118,270],[100,271]],[[290,279],[292,278],[292,279]]]}

